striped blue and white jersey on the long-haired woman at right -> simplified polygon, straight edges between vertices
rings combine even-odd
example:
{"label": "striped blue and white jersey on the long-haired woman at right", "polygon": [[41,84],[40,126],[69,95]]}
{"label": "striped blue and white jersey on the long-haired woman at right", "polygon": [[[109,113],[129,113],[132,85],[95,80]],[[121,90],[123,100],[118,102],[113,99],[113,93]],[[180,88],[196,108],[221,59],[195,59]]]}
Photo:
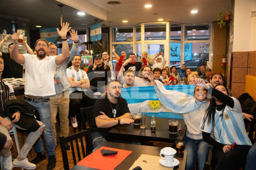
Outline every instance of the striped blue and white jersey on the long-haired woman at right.
{"label": "striped blue and white jersey on the long-haired woman at right", "polygon": [[[234,108],[226,106],[224,111],[216,110],[214,128],[211,123],[208,124],[208,119],[205,115],[200,124],[200,129],[207,133],[213,130],[215,140],[224,145],[232,145],[234,142],[237,145],[252,145],[245,130],[241,104],[236,98],[232,97],[232,99],[234,100]],[[222,113],[223,118],[221,120]]]}

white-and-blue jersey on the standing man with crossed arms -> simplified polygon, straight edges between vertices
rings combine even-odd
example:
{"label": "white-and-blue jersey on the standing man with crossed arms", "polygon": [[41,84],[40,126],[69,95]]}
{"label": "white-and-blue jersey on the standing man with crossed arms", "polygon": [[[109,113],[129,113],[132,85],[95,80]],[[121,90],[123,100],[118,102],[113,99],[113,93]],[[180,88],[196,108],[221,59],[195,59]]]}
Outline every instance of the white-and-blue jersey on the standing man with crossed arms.
{"label": "white-and-blue jersey on the standing man with crossed arms", "polygon": [[[68,78],[74,78],[75,81],[80,81],[82,79],[88,79],[87,73],[81,68],[79,68],[79,71],[75,70],[73,66],[67,68],[67,77]],[[74,91],[87,91],[87,89],[83,89],[80,87],[70,87],[69,88],[69,94],[71,94]]]}

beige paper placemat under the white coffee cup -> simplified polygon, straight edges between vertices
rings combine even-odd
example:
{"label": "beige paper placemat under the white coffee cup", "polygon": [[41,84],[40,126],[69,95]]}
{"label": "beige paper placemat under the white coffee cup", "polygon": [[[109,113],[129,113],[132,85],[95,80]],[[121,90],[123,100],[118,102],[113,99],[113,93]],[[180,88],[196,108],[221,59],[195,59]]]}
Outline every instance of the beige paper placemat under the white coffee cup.
{"label": "beige paper placemat under the white coffee cup", "polygon": [[152,156],[152,155],[145,155],[142,154],[140,155],[140,157],[138,158],[138,160],[136,160],[134,162],[134,164],[132,164],[132,166],[130,167],[129,170],[132,170],[134,168],[136,168],[137,166],[140,166],[140,168],[142,169],[163,169],[163,170],[170,170],[173,169],[173,167],[166,167],[163,166],[159,163],[159,160],[161,159],[160,156]]}

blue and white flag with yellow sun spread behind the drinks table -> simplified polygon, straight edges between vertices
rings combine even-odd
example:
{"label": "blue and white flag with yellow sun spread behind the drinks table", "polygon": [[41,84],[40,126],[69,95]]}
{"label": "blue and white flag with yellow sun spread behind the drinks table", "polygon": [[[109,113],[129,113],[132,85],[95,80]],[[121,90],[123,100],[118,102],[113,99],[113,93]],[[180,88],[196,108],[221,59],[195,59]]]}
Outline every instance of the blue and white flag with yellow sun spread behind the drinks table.
{"label": "blue and white flag with yellow sun spread behind the drinks table", "polygon": [[[176,85],[164,87],[167,90],[182,92],[181,94],[189,96],[190,98],[194,97],[195,86]],[[182,119],[181,115],[164,107],[163,103],[161,103],[156,96],[154,86],[123,88],[121,97],[126,99],[131,114],[139,112],[140,108],[147,108],[147,116],[155,115],[161,118]]]}

